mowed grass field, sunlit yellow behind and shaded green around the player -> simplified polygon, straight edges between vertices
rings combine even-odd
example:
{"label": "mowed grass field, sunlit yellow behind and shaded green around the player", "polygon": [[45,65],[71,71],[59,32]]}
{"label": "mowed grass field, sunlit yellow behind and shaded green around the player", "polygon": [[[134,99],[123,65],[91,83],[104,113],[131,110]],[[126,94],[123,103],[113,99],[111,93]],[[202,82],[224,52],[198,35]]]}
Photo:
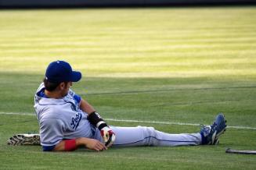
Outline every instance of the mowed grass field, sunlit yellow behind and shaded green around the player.
{"label": "mowed grass field, sunlit yellow behind and shaded green around the player", "polygon": [[[0,169],[256,169],[256,7],[0,11]],[[114,126],[193,133],[224,112],[218,146],[43,153],[10,147],[38,133],[34,92],[56,59],[81,70],[73,90]],[[8,113],[13,113],[12,115]],[[236,129],[237,127],[241,129]],[[246,129],[246,127],[248,129]]]}

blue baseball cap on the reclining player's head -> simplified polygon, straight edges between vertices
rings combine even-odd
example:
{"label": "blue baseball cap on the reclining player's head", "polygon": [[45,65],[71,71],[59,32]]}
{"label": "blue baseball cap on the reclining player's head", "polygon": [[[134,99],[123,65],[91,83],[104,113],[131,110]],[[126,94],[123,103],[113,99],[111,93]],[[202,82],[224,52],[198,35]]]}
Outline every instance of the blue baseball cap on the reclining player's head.
{"label": "blue baseball cap on the reclining player's head", "polygon": [[56,61],[47,67],[45,79],[52,83],[78,82],[81,80],[81,73],[73,71],[68,62]]}

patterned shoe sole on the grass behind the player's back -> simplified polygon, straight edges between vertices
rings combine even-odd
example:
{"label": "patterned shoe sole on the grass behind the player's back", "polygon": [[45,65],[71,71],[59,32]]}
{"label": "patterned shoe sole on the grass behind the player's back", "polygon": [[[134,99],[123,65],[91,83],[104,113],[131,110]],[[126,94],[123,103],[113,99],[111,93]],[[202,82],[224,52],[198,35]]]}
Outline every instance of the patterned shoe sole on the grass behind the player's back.
{"label": "patterned shoe sole on the grass behind the player's back", "polygon": [[39,134],[17,134],[7,140],[9,145],[40,145]]}

